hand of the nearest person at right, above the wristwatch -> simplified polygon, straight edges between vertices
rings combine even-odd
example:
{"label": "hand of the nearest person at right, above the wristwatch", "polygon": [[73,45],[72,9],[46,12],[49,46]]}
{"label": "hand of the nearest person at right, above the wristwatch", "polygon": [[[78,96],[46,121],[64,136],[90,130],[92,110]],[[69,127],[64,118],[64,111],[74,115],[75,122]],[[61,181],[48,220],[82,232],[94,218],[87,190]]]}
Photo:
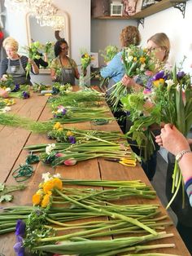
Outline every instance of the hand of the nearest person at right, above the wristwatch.
{"label": "hand of the nearest person at right, above the wristwatch", "polygon": [[155,141],[159,146],[163,146],[168,152],[171,152],[175,156],[178,152],[181,152],[181,150],[190,149],[190,145],[187,139],[185,139],[185,136],[171,124],[166,124],[164,128],[161,129],[161,134],[156,136]]}

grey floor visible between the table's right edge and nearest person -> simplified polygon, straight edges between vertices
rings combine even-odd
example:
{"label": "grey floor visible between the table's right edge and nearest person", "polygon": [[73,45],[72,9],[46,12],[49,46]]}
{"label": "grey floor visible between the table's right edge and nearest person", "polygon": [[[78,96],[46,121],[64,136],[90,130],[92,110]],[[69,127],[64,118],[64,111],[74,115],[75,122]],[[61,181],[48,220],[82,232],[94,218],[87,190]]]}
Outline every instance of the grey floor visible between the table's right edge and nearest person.
{"label": "grey floor visible between the table's right edge and nearest person", "polygon": [[[166,207],[168,205],[167,198],[165,196],[165,178],[166,178],[166,171],[167,171],[167,161],[166,157],[164,157],[164,152],[158,152],[157,155],[157,168],[155,172],[155,177],[153,181],[151,181],[151,184],[155,191],[157,192],[157,195],[159,196],[159,199],[161,203]],[[173,223],[175,225],[177,224],[177,217],[172,212],[171,209],[168,209],[168,214],[172,218]]]}

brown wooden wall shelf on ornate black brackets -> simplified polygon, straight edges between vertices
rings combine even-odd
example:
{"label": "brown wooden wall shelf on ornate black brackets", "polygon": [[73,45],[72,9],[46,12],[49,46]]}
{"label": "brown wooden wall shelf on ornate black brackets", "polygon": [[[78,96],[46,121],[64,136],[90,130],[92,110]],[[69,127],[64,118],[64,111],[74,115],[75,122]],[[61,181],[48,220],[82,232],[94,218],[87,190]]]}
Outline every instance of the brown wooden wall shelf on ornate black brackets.
{"label": "brown wooden wall shelf on ornate black brackets", "polygon": [[164,11],[170,7],[174,7],[176,4],[185,3],[186,0],[162,0],[160,2],[157,2],[151,7],[146,7],[142,11],[139,11],[136,13],[136,15],[133,16],[99,16],[94,17],[94,19],[98,20],[137,20],[142,19],[147,16],[153,15],[159,11]]}

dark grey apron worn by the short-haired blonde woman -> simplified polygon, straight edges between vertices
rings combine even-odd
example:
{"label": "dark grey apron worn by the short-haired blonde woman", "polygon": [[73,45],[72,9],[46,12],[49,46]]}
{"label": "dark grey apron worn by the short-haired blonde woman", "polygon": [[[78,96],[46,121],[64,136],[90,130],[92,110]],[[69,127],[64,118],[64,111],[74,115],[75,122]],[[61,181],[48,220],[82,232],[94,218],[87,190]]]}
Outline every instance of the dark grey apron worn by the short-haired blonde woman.
{"label": "dark grey apron worn by the short-haired blonde woman", "polygon": [[25,70],[22,66],[21,60],[19,58],[20,65],[13,66],[11,65],[11,60],[8,59],[8,67],[7,67],[7,74],[10,74],[13,77],[15,85],[32,85],[29,78],[26,78]]}

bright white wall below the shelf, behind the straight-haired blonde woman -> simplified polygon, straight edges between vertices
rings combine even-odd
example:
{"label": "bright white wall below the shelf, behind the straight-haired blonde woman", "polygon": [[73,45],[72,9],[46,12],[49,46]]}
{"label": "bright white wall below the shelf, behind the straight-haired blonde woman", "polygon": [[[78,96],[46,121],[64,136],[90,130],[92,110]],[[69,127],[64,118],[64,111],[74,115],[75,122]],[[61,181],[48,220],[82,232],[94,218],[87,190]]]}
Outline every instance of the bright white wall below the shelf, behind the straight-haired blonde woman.
{"label": "bright white wall below the shelf, behind the straight-haired blonde woman", "polygon": [[139,25],[142,34],[142,45],[155,33],[164,32],[171,42],[169,60],[172,64],[179,64],[186,55],[187,59],[183,65],[185,72],[192,74],[192,0],[186,2],[185,19],[177,8],[170,7],[165,11],[160,11],[155,15],[146,17],[144,29]]}

